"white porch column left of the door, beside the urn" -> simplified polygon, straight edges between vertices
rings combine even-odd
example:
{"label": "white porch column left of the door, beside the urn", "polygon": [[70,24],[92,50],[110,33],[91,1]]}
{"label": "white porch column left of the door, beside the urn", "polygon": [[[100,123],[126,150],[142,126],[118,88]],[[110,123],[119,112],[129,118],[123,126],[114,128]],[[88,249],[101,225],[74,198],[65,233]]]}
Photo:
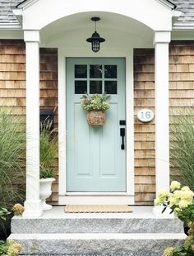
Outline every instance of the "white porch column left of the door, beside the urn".
{"label": "white porch column left of the door, beside the urn", "polygon": [[39,200],[39,31],[24,31],[26,55],[26,199],[23,216],[41,216]]}

